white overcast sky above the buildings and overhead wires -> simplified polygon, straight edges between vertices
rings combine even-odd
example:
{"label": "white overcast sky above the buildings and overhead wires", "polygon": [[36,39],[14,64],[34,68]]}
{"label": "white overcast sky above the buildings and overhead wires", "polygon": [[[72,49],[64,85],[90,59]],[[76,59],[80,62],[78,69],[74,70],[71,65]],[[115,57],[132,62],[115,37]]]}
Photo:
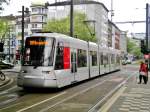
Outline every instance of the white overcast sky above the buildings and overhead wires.
{"label": "white overcast sky above the buildings and overhead wires", "polygon": [[[16,14],[21,10],[21,6],[29,7],[31,1],[34,2],[55,2],[55,0],[11,0],[10,5],[5,6],[5,10],[1,15]],[[59,0],[58,0],[59,1]],[[111,0],[95,0],[103,3],[108,10],[111,9]],[[146,3],[150,3],[150,0],[112,0],[114,17],[113,22],[120,21],[143,21],[146,16]],[[117,24],[117,26],[123,31],[129,31],[130,33],[145,32],[145,24]]]}

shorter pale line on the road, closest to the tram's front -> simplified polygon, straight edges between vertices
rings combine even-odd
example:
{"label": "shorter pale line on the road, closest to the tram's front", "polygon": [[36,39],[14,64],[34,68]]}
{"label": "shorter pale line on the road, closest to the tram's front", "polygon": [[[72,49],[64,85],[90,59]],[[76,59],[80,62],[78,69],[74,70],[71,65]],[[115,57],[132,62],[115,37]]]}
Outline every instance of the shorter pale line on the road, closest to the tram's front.
{"label": "shorter pale line on the road, closest to the tram's front", "polygon": [[45,103],[45,102],[47,102],[47,101],[49,101],[49,100],[52,100],[52,99],[54,99],[54,98],[56,98],[56,97],[59,97],[59,96],[61,96],[61,95],[64,95],[64,94],[66,94],[66,92],[60,93],[60,94],[58,94],[58,95],[56,95],[56,96],[53,96],[53,97],[51,97],[51,98],[49,98],[49,99],[46,99],[46,100],[43,100],[43,101],[41,101],[41,102],[39,102],[39,103],[36,103],[36,104],[34,104],[34,105],[31,105],[31,106],[29,106],[29,107],[23,108],[23,109],[18,110],[18,111],[16,111],[16,112],[23,112],[23,111],[25,111],[25,110],[28,110],[28,109],[33,108],[33,107],[35,107],[35,106],[38,106],[38,105],[40,105],[40,104],[42,104],[42,103]]}

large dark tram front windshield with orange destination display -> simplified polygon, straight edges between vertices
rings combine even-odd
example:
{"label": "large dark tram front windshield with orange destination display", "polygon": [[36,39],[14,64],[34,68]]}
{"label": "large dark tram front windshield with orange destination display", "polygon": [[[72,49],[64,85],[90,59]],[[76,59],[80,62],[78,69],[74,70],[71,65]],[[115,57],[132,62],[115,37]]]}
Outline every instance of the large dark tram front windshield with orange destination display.
{"label": "large dark tram front windshield with orange destination display", "polygon": [[28,37],[25,42],[25,66],[52,66],[55,40],[48,37]]}

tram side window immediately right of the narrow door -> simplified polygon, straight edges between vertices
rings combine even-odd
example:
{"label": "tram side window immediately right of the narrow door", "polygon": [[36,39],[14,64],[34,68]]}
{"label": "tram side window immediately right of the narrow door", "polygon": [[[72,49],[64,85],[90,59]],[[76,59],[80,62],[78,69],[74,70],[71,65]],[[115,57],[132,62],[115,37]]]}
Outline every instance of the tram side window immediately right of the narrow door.
{"label": "tram side window immediately right of the narrow door", "polygon": [[78,67],[87,67],[86,50],[78,49]]}

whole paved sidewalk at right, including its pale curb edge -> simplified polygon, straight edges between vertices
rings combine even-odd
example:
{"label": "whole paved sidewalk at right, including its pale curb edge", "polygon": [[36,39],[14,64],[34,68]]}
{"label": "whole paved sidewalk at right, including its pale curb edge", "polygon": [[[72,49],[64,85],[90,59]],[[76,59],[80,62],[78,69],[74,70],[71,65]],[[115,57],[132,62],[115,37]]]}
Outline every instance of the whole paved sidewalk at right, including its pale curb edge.
{"label": "whole paved sidewalk at right, including its pale curb edge", "polygon": [[138,84],[132,77],[99,112],[150,112],[150,73],[147,84]]}

